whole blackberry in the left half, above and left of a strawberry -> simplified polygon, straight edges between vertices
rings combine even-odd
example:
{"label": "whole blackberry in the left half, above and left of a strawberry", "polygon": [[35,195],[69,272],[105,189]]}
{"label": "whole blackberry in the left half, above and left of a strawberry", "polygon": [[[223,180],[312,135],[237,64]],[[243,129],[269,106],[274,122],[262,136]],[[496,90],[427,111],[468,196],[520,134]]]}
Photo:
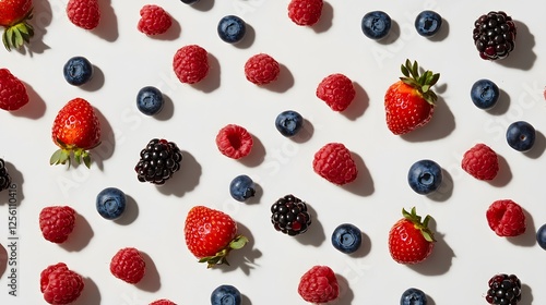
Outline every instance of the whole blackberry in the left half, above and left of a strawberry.
{"label": "whole blackberry in the left half, above and left of a strawberry", "polygon": [[180,169],[181,160],[182,154],[175,143],[153,138],[140,151],[140,160],[134,171],[140,182],[161,185]]}

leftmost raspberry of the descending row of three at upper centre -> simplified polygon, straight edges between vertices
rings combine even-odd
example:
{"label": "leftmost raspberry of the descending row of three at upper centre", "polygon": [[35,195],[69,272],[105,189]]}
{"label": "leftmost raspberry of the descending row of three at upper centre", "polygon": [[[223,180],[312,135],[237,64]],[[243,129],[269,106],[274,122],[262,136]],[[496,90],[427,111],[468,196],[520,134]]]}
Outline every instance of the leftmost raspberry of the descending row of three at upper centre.
{"label": "leftmost raspberry of the descending row of three at upper centre", "polygon": [[181,83],[199,83],[209,74],[209,53],[198,45],[181,47],[175,53],[173,69]]}

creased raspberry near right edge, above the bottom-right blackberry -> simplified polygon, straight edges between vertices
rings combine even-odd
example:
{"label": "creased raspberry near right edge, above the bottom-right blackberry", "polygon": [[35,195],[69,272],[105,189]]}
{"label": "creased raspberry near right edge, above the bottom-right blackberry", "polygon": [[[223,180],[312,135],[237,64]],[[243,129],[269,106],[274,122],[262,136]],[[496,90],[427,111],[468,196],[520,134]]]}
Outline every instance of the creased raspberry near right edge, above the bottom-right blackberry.
{"label": "creased raspberry near right edge, above the bottom-right blackberry", "polygon": [[525,213],[511,199],[494,202],[486,211],[487,224],[499,236],[518,236],[525,233]]}

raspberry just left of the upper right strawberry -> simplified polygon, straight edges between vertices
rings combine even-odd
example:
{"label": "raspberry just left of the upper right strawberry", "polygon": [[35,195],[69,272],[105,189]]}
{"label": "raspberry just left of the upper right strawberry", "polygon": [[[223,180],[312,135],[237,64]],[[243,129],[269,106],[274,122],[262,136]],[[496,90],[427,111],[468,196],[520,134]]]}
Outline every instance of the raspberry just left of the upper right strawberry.
{"label": "raspberry just left of the upper right strawberry", "polygon": [[317,87],[317,97],[325,101],[334,111],[347,109],[355,95],[353,81],[340,73],[324,77]]}

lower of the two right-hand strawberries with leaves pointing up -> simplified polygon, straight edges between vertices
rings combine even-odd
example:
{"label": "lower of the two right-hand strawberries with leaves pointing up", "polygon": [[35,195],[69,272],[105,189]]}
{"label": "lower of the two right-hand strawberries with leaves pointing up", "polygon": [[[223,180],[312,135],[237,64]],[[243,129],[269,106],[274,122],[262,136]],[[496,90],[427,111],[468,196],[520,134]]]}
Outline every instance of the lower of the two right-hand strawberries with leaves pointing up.
{"label": "lower of the two right-hand strawberries with leaves pointing up", "polygon": [[399,264],[418,264],[425,260],[435,246],[432,231],[428,228],[431,217],[422,221],[415,211],[402,209],[403,218],[392,225],[389,232],[389,252]]}

